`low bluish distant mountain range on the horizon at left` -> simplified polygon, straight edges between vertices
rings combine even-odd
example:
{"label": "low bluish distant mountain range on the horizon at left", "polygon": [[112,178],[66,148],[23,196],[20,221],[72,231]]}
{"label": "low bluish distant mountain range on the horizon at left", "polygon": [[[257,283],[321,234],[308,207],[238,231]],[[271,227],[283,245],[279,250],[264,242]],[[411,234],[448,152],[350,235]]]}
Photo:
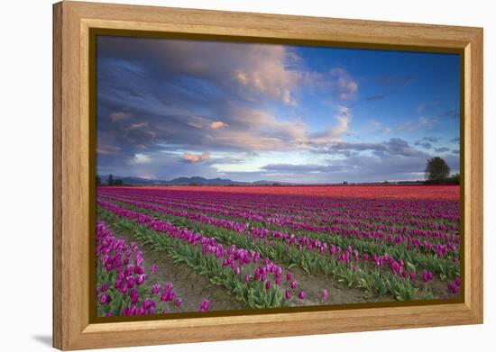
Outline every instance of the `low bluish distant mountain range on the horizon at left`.
{"label": "low bluish distant mountain range on the horizon at left", "polygon": [[[108,176],[98,176],[103,185],[106,185]],[[123,180],[124,185],[290,185],[284,182],[276,181],[255,181],[255,182],[239,182],[225,178],[205,178],[200,176],[179,177],[170,181],[153,180],[149,178],[133,177],[133,176],[114,176],[114,179]]]}

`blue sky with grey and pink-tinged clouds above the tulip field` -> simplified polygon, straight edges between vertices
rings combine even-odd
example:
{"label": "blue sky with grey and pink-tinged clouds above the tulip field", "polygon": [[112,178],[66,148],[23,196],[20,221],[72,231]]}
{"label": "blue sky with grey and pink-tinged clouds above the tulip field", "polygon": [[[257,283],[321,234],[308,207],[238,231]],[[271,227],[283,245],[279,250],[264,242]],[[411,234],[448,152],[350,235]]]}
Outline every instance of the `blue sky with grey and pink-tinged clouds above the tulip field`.
{"label": "blue sky with grey and pink-tinged clouds above the tulip field", "polygon": [[98,36],[96,173],[299,184],[459,170],[457,54]]}

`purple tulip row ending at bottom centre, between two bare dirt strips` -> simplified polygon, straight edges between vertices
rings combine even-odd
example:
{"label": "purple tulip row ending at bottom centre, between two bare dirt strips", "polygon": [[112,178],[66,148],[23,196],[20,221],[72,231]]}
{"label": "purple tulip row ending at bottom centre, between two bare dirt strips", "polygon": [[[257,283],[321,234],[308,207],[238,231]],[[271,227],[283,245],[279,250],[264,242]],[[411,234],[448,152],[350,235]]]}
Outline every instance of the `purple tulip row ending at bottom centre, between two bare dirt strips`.
{"label": "purple tulip row ending at bottom centre, between two bare dirt strips", "polygon": [[[268,258],[261,259],[255,250],[236,246],[224,247],[213,237],[205,237],[168,221],[124,209],[114,203],[98,201],[105,218],[119,230],[166,252],[175,263],[184,263],[193,271],[206,275],[211,282],[227,288],[240,301],[252,308],[288,305],[289,298],[280,285],[282,269]],[[273,284],[272,284],[273,283]],[[303,295],[304,293],[299,293]]]}

